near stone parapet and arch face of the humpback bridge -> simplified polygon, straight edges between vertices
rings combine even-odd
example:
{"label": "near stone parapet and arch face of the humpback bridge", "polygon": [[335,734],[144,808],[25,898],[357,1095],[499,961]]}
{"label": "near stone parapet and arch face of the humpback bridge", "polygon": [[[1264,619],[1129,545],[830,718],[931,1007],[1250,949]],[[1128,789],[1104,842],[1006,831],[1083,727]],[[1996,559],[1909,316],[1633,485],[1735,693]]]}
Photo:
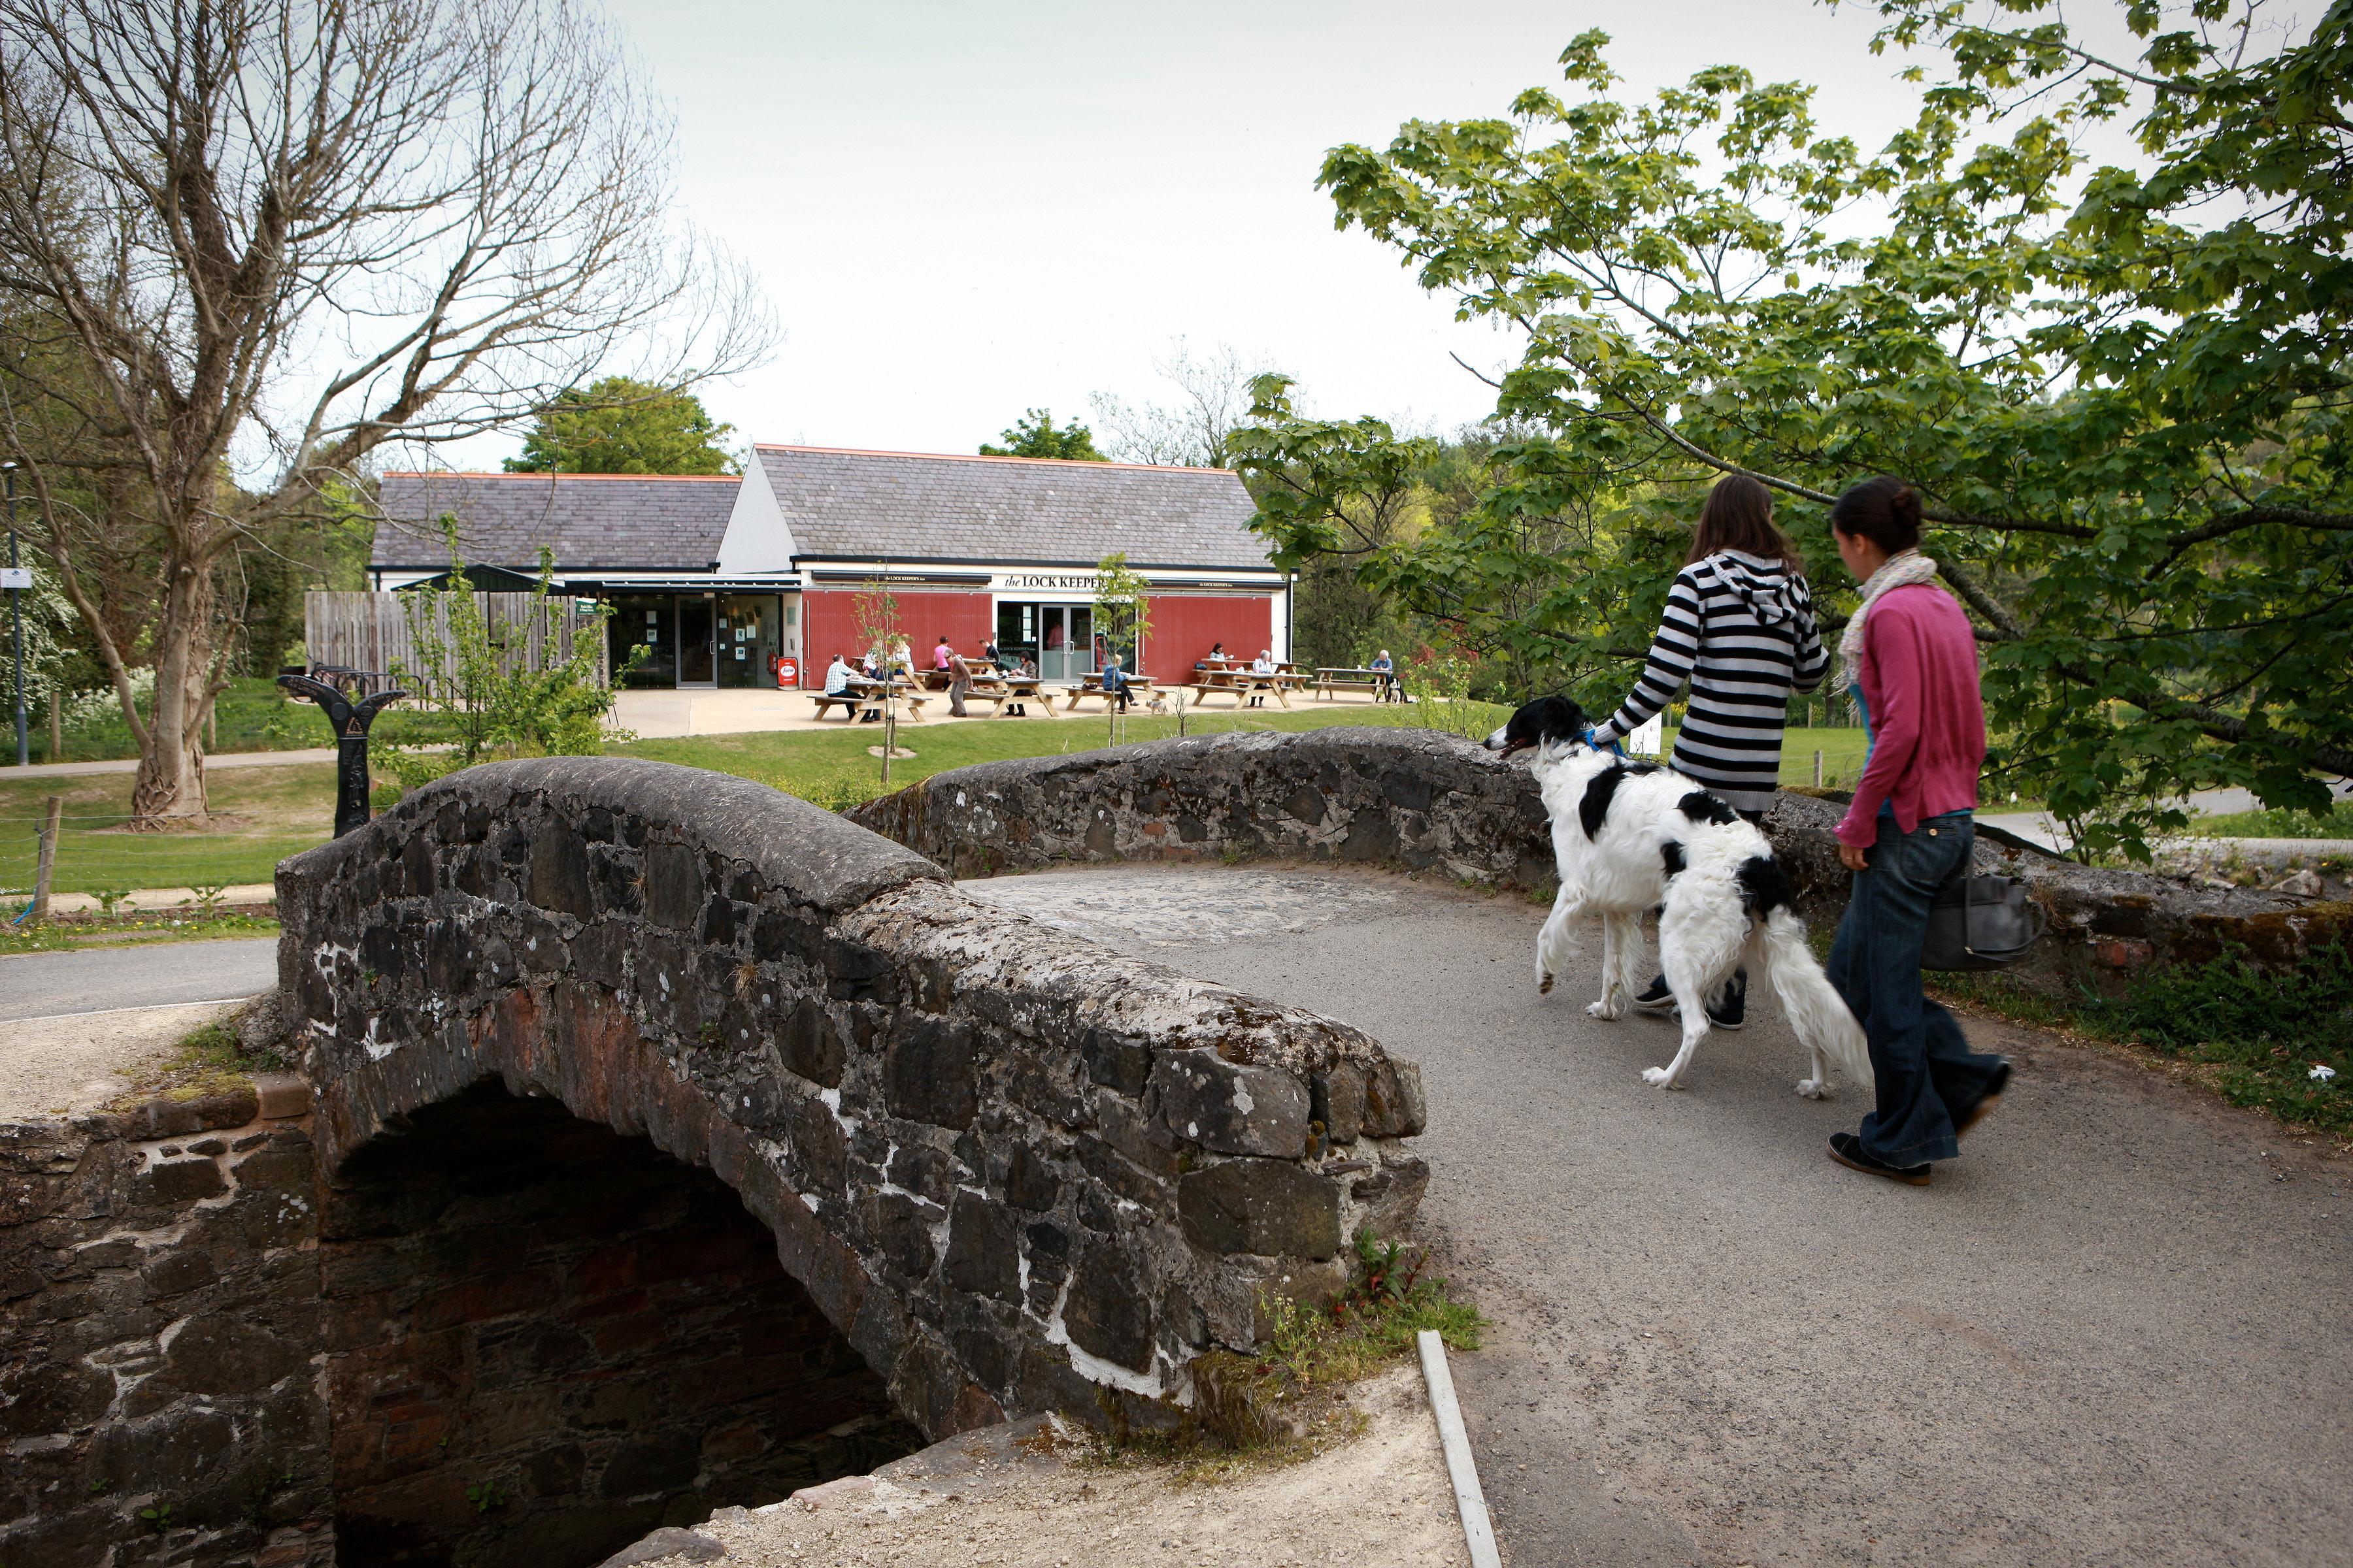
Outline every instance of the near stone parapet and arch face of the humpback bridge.
{"label": "near stone parapet and arch face of the humpback bridge", "polygon": [[713,1171],[932,1439],[1188,1396],[1426,1168],[1346,1025],[967,898],[765,785],[468,769],[278,872],[325,1173],[485,1079]]}

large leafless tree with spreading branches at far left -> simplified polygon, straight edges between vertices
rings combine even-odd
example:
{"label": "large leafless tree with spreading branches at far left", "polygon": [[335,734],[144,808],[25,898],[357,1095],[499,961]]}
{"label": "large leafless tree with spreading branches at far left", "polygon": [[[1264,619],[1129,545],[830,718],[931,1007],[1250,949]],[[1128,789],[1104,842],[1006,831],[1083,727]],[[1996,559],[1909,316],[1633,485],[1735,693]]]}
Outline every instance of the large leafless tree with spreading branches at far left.
{"label": "large leafless tree with spreading branches at far left", "polygon": [[[767,353],[673,221],[668,113],[576,0],[0,0],[0,449],[132,733],[139,823],[205,820],[219,564],[386,442],[595,371]],[[242,477],[242,482],[233,482]],[[153,710],[82,552],[151,541]]]}

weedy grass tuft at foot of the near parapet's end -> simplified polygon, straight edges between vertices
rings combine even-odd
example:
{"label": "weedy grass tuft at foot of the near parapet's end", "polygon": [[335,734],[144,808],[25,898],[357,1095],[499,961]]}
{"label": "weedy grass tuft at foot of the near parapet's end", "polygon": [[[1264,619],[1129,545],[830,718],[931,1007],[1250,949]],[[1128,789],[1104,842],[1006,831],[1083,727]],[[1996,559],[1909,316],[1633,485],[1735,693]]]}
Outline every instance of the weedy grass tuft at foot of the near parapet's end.
{"label": "weedy grass tuft at foot of the near parapet's end", "polygon": [[1162,1465],[1176,1481],[1221,1481],[1249,1469],[1297,1465],[1355,1436],[1362,1415],[1341,1389],[1414,1354],[1424,1328],[1449,1349],[1478,1349],[1487,1319],[1426,1279],[1428,1255],[1398,1241],[1355,1234],[1355,1279],[1325,1300],[1264,1295],[1266,1345],[1257,1356],[1209,1352],[1193,1363],[1193,1406],[1174,1427],[1139,1432],[1125,1406],[1106,1401],[1108,1432],[1085,1453],[1092,1465]]}

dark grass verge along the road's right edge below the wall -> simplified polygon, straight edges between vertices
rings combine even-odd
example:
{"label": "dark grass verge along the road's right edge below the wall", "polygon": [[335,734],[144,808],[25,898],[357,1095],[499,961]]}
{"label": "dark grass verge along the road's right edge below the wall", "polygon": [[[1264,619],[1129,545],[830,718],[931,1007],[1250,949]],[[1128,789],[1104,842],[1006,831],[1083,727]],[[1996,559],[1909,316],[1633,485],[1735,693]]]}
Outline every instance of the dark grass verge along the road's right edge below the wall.
{"label": "dark grass verge along the road's right edge below the wall", "polygon": [[[2118,997],[2054,999],[1979,976],[1937,976],[1934,990],[2179,1063],[2233,1105],[2353,1140],[2353,950],[2341,945],[2285,973],[2257,969],[2242,952],[2158,969]],[[2313,1077],[2313,1067],[2334,1077]]]}

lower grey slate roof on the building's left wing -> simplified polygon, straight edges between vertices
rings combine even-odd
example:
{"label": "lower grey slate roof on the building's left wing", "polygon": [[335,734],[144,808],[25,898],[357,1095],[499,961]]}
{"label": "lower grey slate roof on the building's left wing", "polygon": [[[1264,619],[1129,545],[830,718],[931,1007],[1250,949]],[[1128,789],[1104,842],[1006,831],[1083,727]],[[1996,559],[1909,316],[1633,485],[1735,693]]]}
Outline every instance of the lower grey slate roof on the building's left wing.
{"label": "lower grey slate roof on the building's left wing", "polygon": [[708,571],[741,480],[668,475],[388,473],[376,491],[374,567],[447,567],[440,515],[456,512],[466,559],[562,571]]}

